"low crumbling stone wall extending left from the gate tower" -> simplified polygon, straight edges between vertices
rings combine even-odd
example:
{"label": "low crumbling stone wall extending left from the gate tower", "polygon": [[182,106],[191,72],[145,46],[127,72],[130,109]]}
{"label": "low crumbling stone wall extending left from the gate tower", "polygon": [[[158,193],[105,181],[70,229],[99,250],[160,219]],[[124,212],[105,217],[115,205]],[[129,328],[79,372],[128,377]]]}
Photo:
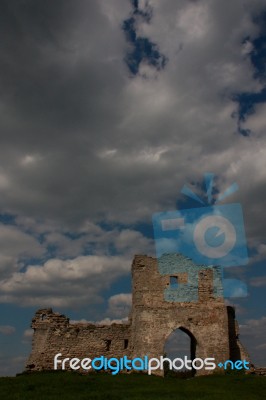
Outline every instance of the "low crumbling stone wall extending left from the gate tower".
{"label": "low crumbling stone wall extending left from the gate tower", "polygon": [[64,315],[43,309],[36,312],[31,327],[34,335],[28,370],[52,370],[57,353],[62,353],[60,359],[129,355],[131,332],[128,324],[70,324]]}

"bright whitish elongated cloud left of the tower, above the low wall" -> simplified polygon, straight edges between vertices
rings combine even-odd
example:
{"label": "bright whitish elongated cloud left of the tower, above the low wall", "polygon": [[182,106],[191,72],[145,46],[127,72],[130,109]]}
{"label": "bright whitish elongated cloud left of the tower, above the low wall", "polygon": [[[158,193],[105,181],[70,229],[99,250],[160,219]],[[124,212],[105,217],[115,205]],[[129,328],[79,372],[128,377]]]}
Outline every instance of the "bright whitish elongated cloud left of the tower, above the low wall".
{"label": "bright whitish elongated cloud left of the tower, above the low wall", "polygon": [[29,266],[0,282],[0,302],[36,307],[96,304],[112,282],[129,273],[130,262],[122,256],[81,256]]}

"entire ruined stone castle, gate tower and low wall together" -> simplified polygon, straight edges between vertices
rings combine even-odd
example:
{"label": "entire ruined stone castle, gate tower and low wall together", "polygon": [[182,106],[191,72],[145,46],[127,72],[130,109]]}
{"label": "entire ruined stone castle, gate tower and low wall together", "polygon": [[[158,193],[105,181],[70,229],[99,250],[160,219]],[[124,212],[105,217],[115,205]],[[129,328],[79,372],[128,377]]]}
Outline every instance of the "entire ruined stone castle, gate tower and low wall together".
{"label": "entire ruined stone castle, gate tower and low wall together", "polygon": [[[178,262],[187,260],[178,255]],[[180,258],[181,257],[181,258]],[[34,329],[28,371],[52,370],[54,356],[83,359],[105,356],[129,358],[164,354],[167,338],[176,329],[191,341],[191,359],[213,357],[218,362],[247,360],[249,356],[239,341],[234,308],[214,294],[215,267],[198,268],[198,299],[190,302],[165,300],[165,291],[174,294],[172,279],[178,285],[187,282],[186,272],[161,275],[157,259],[137,255],[132,263],[132,309],[128,323],[96,325],[69,323],[52,309],[38,310],[32,320]],[[170,296],[171,297],[171,296]],[[189,356],[189,355],[188,355]],[[219,371],[221,371],[219,369]],[[163,371],[154,371],[163,374]],[[201,369],[197,375],[213,373]]]}

